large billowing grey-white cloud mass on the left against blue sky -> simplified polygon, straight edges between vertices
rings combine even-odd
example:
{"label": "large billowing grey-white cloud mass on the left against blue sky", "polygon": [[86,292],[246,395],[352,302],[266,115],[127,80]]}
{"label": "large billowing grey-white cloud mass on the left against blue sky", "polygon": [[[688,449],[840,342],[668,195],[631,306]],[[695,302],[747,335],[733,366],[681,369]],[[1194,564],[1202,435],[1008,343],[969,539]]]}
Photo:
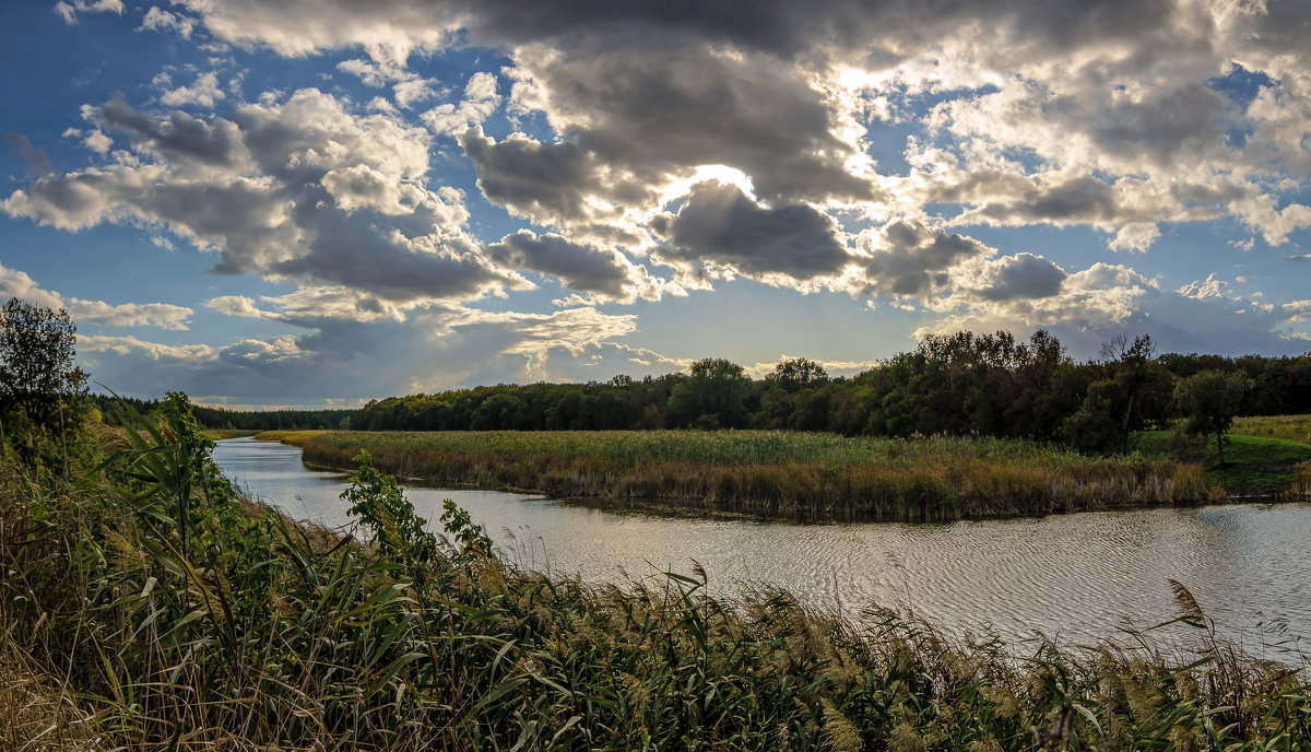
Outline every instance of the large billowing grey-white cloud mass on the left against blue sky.
{"label": "large billowing grey-white cloud mass on the left against blue sky", "polygon": [[45,176],[3,207],[60,228],[139,220],[218,251],[215,270],[343,285],[391,301],[530,285],[480,256],[463,196],[429,190],[429,136],[316,89],[220,117],[163,119],[115,96],[90,115],[134,154]]}

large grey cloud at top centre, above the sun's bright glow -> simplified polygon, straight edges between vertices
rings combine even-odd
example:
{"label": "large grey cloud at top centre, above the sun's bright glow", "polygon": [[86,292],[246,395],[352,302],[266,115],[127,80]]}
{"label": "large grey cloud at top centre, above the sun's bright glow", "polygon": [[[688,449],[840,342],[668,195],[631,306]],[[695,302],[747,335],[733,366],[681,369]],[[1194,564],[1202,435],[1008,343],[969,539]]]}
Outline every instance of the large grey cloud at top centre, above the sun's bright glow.
{"label": "large grey cloud at top centre, above the sun's bright glow", "polygon": [[832,102],[805,72],[695,38],[644,33],[526,45],[514,55],[518,106],[608,165],[646,182],[703,164],[751,177],[767,201],[868,199],[868,176],[847,164]]}

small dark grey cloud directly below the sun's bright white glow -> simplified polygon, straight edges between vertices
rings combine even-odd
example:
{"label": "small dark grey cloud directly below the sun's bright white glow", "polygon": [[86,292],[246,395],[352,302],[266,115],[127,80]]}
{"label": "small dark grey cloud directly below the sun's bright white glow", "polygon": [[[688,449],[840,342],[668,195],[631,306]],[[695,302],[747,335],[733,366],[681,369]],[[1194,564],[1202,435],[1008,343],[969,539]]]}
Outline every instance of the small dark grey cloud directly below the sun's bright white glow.
{"label": "small dark grey cloud directly below the sun's bright white glow", "polygon": [[743,274],[810,280],[840,274],[853,260],[826,214],[802,203],[762,209],[718,182],[696,185],[678,214],[659,215],[652,227],[667,240],[661,257],[714,261]]}

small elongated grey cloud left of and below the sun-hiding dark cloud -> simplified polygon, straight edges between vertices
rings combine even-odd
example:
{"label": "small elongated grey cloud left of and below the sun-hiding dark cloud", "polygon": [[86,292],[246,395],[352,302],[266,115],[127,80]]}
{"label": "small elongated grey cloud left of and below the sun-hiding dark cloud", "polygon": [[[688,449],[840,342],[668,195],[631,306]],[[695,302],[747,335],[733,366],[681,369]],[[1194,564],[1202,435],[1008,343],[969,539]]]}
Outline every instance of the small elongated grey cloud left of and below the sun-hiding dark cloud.
{"label": "small elongated grey cloud left of and below the sun-hiding dark cloud", "polygon": [[553,234],[538,238],[520,230],[488,245],[488,255],[497,264],[551,274],[574,290],[611,298],[623,297],[629,281],[628,265],[614,252],[578,245]]}

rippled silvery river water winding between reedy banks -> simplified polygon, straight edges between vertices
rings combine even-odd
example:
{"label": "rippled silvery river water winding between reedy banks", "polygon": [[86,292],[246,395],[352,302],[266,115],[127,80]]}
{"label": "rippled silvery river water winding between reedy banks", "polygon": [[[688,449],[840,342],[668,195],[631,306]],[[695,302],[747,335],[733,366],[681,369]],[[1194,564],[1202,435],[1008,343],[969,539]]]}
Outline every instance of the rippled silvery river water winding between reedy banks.
{"label": "rippled silvery river water winding between reedy banks", "polygon": [[[294,517],[351,524],[337,497],[343,476],[307,470],[299,449],[237,438],[220,441],[214,459]],[[1308,504],[797,525],[614,513],[498,491],[409,486],[406,496],[437,530],[442,500],[454,499],[510,560],[595,583],[658,581],[699,563],[721,596],[768,584],[853,618],[871,604],[903,606],[954,634],[1087,644],[1172,618],[1173,579],[1249,650],[1311,634]]]}

